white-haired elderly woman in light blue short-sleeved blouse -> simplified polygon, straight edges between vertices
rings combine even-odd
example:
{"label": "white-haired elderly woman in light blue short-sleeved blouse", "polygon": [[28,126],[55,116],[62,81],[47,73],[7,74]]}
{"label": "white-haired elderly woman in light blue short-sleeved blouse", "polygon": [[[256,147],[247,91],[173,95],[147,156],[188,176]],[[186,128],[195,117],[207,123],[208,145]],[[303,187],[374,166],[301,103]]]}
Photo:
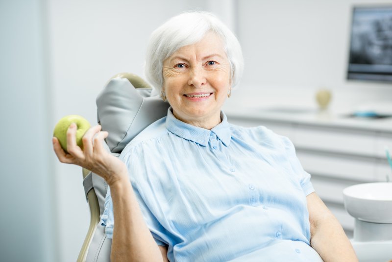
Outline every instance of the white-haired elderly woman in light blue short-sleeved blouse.
{"label": "white-haired elderly woman in light blue short-sleeved blouse", "polygon": [[[102,224],[113,261],[357,261],[337,219],[314,192],[286,137],[227,122],[221,107],[241,78],[234,34],[215,16],[183,13],[156,29],[146,75],[171,107],[119,158],[100,127],[65,163],[109,184]],[[251,95],[251,94],[249,94]]]}

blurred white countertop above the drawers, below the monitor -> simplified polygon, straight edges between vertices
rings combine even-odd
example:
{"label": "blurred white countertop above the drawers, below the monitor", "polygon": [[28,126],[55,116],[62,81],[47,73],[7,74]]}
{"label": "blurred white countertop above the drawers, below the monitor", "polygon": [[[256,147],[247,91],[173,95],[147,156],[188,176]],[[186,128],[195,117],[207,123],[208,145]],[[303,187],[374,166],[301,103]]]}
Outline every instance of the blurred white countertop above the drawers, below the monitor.
{"label": "blurred white countertop above the drawers, below the monitor", "polygon": [[[232,96],[227,99],[223,105],[223,111],[229,119],[235,117],[392,133],[392,117],[378,119],[349,117],[353,111],[348,106],[335,106],[333,110],[330,108],[321,111],[311,98],[306,97],[285,99],[256,94],[255,96],[239,95],[239,93],[236,95],[234,98]],[[311,102],[306,103],[306,101]]]}

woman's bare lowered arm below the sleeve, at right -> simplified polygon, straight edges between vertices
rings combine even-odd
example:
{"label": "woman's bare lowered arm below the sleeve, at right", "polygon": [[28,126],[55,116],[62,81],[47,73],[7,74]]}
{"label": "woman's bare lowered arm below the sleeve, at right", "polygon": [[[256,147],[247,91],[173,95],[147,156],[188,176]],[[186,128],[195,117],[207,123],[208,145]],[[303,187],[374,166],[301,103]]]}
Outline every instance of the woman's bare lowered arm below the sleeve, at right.
{"label": "woman's bare lowered arm below the sleeve, at right", "polygon": [[325,262],[358,262],[354,249],[336,217],[313,192],[306,197],[310,245]]}

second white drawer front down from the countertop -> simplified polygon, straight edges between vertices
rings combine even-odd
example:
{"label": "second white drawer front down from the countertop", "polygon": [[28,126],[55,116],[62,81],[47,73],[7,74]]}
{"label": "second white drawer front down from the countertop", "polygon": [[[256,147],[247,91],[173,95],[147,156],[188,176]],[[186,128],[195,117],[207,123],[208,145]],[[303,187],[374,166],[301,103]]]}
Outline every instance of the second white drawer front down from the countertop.
{"label": "second white drawer front down from the countertop", "polygon": [[375,181],[375,159],[297,150],[302,167],[311,175],[356,182]]}

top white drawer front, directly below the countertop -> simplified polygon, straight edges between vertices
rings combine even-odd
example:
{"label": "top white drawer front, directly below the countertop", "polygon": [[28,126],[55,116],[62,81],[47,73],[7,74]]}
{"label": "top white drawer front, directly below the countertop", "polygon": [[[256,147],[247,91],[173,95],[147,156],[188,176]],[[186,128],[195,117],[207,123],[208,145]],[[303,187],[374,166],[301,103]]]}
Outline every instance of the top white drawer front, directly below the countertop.
{"label": "top white drawer front, directly below the countertop", "polygon": [[296,148],[374,156],[376,132],[298,126],[294,132],[293,143]]}

